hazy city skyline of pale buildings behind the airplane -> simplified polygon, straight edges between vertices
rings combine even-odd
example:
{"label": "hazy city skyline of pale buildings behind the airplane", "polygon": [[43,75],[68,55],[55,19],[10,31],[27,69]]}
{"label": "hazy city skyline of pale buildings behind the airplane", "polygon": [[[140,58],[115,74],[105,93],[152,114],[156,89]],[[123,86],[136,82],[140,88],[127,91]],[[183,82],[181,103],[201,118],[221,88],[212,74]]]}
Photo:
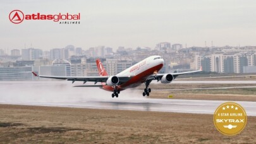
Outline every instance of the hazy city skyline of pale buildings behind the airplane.
{"label": "hazy city skyline of pale buildings behind the airplane", "polygon": [[[98,46],[83,51],[81,47],[66,45],[61,49],[42,51],[28,48],[13,49],[7,56],[0,49],[0,80],[34,80],[28,71],[40,75],[92,76],[97,74],[95,60],[106,64],[107,72],[116,75],[130,68],[145,57],[161,56],[164,66],[161,73],[188,71],[202,68],[205,73],[256,73],[256,46],[252,47],[189,47],[162,42],[156,49],[125,49],[119,47],[113,52],[110,47]],[[11,73],[9,73],[11,71]],[[15,75],[14,75],[15,74]],[[25,75],[26,74],[26,75]],[[24,79],[25,78],[25,79]],[[28,79],[27,79],[28,78]]]}

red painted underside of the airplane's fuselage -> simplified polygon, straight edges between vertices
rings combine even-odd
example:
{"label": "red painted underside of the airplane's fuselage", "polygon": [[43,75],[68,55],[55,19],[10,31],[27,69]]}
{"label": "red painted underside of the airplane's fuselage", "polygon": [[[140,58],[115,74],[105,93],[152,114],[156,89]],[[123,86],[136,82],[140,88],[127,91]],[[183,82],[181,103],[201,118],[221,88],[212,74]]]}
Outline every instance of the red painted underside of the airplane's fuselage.
{"label": "red painted underside of the airplane's fuselage", "polygon": [[[159,71],[162,68],[163,64],[159,64],[157,66],[154,66],[150,69],[147,69],[143,71],[142,73],[139,73],[136,76],[133,76],[131,80],[127,81],[126,83],[123,83],[122,85],[118,85],[116,89],[118,90],[125,90],[126,88],[134,88],[138,87],[138,85],[141,85],[145,80],[147,80],[147,77],[150,75],[153,75],[154,71]],[[113,92],[114,88],[109,85],[102,86],[104,90],[108,90]]]}

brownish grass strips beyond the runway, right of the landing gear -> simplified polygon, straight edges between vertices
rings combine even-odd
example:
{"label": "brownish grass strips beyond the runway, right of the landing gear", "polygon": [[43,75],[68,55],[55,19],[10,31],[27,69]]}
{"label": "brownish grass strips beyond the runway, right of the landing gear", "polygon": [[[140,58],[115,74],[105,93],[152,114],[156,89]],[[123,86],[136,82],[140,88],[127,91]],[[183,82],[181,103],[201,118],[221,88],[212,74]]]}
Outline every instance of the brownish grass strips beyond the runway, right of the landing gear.
{"label": "brownish grass strips beyond the runway, right of the landing gear", "polygon": [[[202,100],[240,100],[256,101],[256,88],[228,88],[228,89],[204,89],[204,90],[173,90],[185,88],[219,88],[219,87],[246,87],[256,86],[255,84],[151,84],[150,98],[168,99],[202,99]],[[143,90],[144,86],[138,87]],[[155,91],[159,90],[159,91]]]}

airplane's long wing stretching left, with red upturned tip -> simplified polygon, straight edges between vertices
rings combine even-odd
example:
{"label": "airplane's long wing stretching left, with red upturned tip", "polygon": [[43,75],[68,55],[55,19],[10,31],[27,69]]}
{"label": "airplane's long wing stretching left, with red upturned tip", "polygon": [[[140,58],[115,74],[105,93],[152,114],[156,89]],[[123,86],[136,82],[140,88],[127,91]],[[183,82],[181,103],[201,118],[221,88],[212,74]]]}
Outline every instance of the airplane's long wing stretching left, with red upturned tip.
{"label": "airplane's long wing stretching left, with red upturned tip", "polygon": [[[86,83],[87,81],[93,81],[94,84],[97,82],[106,82],[107,78],[111,76],[44,76],[44,75],[37,75],[34,71],[32,71],[34,76],[38,76],[40,78],[53,78],[53,79],[59,79],[59,80],[68,80],[72,81],[74,83],[75,81],[83,81],[83,83]],[[126,81],[131,79],[131,76],[118,76],[119,78],[119,85],[122,83],[125,83]]]}

